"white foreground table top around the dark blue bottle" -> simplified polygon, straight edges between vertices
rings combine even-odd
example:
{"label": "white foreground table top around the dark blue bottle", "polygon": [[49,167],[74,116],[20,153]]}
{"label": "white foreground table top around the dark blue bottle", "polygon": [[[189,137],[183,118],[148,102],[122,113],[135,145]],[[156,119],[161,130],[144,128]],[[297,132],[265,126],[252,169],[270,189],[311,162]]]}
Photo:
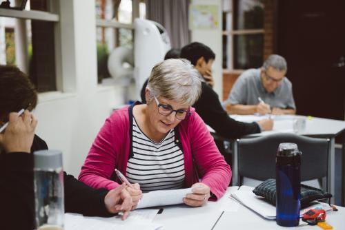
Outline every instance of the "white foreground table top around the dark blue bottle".
{"label": "white foreground table top around the dark blue bottle", "polygon": [[[237,187],[228,187],[226,194],[217,202],[208,202],[204,207],[188,207],[186,205],[174,205],[164,207],[161,214],[155,216],[153,223],[159,224],[162,230],[183,230],[183,229],[287,229],[279,227],[274,220],[266,220],[258,216],[253,211],[239,205],[235,200],[229,198],[229,195],[237,190]],[[334,229],[344,229],[345,208],[337,207],[339,211],[327,213],[326,220]],[[226,210],[226,211],[224,211]],[[223,213],[224,211],[224,213]],[[219,218],[220,217],[220,218]],[[90,219],[90,217],[81,217]],[[94,218],[97,219],[97,218]],[[111,222],[112,219],[106,220]],[[301,220],[302,221],[302,220]],[[217,223],[217,224],[216,224]],[[123,222],[120,229],[133,229]],[[97,226],[89,229],[99,230]],[[297,229],[297,228],[288,228]],[[319,229],[318,227],[306,226],[298,229]],[[66,230],[72,230],[66,228]]]}

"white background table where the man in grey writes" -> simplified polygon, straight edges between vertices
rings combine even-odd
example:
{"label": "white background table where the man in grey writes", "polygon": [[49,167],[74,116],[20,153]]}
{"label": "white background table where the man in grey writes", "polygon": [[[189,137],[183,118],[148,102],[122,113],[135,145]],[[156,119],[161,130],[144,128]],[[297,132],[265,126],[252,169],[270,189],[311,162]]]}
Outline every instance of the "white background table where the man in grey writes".
{"label": "white background table where the man in grey writes", "polygon": [[[234,118],[237,121],[252,122],[259,121],[266,116],[254,116],[254,115],[231,115],[230,117]],[[299,132],[298,134],[304,136],[311,136],[317,138],[329,138],[331,140],[331,154],[328,160],[328,179],[329,179],[329,189],[328,191],[331,194],[335,192],[335,137],[345,130],[345,121],[337,121],[333,119],[326,118],[315,118],[315,117],[306,117],[306,116],[294,116],[294,115],[283,115],[283,116],[274,116],[275,125],[272,131],[265,131],[259,134],[250,134],[246,135],[243,138],[251,138],[256,136],[265,136],[268,134],[275,134],[277,132],[293,132],[293,119],[297,117],[306,118],[306,129]],[[215,132],[212,128],[208,127],[210,132]],[[342,167],[344,171],[345,167],[345,138],[343,138],[343,161]],[[237,149],[234,143],[233,145],[233,178],[232,185],[238,185],[237,181]],[[343,192],[342,198],[345,205],[345,173],[343,173]]]}

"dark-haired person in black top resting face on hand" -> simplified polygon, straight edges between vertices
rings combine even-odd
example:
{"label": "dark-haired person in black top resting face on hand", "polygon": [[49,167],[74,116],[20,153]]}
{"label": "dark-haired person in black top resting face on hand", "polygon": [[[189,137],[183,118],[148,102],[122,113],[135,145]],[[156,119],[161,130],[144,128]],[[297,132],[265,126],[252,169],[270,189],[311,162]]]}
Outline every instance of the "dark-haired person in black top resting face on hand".
{"label": "dark-haired person in black top resting face on hand", "polygon": [[215,60],[215,53],[207,45],[198,42],[190,43],[182,48],[180,57],[190,60],[204,77],[204,82],[201,83],[201,96],[193,107],[204,122],[215,129],[217,134],[224,138],[233,139],[273,128],[273,120],[271,119],[257,123],[244,123],[235,121],[228,116],[221,107],[217,93],[210,87],[212,86],[210,83],[213,83],[211,67]]}

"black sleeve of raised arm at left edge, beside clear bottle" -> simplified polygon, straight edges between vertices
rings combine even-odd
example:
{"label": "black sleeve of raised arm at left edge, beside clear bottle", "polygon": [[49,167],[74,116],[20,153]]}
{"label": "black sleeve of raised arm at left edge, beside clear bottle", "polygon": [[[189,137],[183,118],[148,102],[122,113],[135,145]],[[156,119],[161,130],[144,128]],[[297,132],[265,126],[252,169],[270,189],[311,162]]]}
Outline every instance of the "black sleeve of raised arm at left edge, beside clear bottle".
{"label": "black sleeve of raised arm at left edge, beside clear bottle", "polygon": [[32,154],[0,154],[0,229],[34,228]]}

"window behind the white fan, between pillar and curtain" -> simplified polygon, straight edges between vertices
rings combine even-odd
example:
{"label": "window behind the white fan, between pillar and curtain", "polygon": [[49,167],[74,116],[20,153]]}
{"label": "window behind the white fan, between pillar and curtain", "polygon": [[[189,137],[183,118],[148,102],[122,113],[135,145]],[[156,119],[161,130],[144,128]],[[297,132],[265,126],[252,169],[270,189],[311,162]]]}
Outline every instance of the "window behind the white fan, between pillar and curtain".
{"label": "window behind the white fan, between pillar and curtain", "polygon": [[144,1],[96,0],[99,83],[110,77],[107,67],[110,52],[119,46],[133,48],[132,21],[135,17],[145,17]]}

